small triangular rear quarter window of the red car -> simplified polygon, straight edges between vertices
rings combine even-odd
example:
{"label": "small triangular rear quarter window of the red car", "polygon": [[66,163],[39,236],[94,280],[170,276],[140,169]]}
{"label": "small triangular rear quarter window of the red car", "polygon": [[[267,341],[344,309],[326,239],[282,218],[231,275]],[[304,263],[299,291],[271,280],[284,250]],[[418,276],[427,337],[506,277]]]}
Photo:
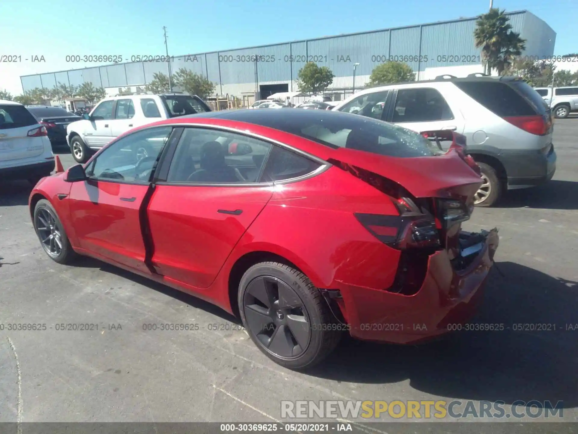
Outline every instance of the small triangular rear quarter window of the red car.
{"label": "small triangular rear quarter window of the red car", "polygon": [[320,164],[280,146],[273,146],[267,159],[262,182],[284,181],[305,176],[316,170]]}

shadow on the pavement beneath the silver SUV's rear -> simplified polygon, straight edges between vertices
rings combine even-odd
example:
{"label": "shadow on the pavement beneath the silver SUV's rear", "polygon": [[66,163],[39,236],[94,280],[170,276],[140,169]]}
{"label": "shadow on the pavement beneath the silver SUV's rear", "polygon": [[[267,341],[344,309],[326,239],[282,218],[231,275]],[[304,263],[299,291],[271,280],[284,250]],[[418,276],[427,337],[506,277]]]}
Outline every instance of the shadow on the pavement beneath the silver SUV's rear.
{"label": "shadow on the pavement beneath the silver SUV's rear", "polygon": [[553,179],[529,189],[510,190],[496,208],[578,209],[578,182]]}

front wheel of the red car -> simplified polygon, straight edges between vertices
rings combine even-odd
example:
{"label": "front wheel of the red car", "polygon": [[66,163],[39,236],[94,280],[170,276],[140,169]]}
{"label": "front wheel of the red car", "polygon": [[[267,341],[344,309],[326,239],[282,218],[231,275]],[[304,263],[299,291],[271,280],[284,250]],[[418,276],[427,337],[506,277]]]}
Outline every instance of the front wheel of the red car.
{"label": "front wheel of the red car", "polygon": [[[52,218],[52,221],[50,218],[46,217],[47,215]],[[49,201],[46,199],[40,199],[38,203],[36,203],[36,206],[34,207],[34,218],[32,219],[32,223],[34,224],[36,235],[40,240],[40,245],[42,245],[42,248],[50,259],[58,262],[59,264],[69,264],[74,259],[76,259],[78,255],[72,249],[70,241],[68,240],[68,236],[66,236],[66,232],[62,226],[62,222],[60,221],[60,218],[58,218],[58,214],[56,214],[56,211],[54,211],[54,208]],[[46,225],[46,223],[48,223],[48,225]],[[52,224],[54,229],[49,229]],[[42,229],[42,227],[46,227],[47,229]],[[58,236],[55,236],[56,233]],[[49,236],[52,238],[47,238]],[[47,245],[45,238],[49,239],[49,242],[53,242],[53,244]],[[51,248],[53,245],[54,247],[58,247],[59,241],[61,245],[60,251],[55,248],[54,252],[52,252]]]}

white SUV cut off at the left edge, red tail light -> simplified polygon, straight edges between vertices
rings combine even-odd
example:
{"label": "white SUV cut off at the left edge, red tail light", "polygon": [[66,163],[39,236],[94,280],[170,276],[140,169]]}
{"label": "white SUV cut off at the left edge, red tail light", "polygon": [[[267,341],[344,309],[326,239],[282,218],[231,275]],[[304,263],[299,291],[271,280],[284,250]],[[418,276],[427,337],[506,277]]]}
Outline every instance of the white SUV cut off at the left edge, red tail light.
{"label": "white SUV cut off at the left edge, red tail light", "polygon": [[36,184],[53,170],[46,128],[22,104],[0,100],[0,179]]}

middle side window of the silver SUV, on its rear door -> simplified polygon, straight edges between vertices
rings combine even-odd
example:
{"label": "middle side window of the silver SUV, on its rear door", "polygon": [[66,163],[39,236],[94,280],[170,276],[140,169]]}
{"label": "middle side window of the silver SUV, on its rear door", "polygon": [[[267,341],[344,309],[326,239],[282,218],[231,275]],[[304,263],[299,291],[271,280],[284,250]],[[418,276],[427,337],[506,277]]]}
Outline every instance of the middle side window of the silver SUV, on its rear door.
{"label": "middle side window of the silver SUV, on its rear door", "polygon": [[454,119],[450,106],[436,89],[399,89],[392,122],[433,122]]}

